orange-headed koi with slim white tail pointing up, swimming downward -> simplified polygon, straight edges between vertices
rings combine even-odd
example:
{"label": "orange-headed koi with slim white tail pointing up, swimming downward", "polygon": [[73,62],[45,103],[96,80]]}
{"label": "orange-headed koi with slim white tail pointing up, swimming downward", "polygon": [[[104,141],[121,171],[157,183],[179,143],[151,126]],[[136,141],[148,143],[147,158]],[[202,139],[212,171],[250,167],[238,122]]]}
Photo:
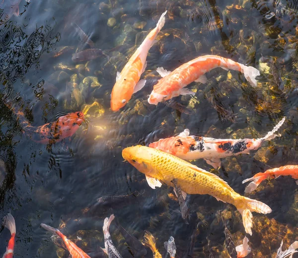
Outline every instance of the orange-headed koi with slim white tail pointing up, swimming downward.
{"label": "orange-headed koi with slim white tail pointing up, swimming downward", "polygon": [[146,59],[149,49],[154,44],[158,32],[165,23],[164,16],[166,12],[167,11],[161,14],[156,27],[150,31],[141,46],[124,66],[121,73],[117,72],[116,83],[111,95],[112,111],[115,112],[123,108],[131,99],[132,95],[145,86],[146,80],[140,80],[140,77],[147,66]]}

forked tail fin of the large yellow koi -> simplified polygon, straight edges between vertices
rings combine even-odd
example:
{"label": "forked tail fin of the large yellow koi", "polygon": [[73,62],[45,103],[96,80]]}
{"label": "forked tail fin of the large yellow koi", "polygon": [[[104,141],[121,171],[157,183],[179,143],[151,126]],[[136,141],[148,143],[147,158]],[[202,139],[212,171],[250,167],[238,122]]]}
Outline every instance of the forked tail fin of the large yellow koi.
{"label": "forked tail fin of the large yellow koi", "polygon": [[265,203],[253,200],[244,196],[241,196],[240,205],[236,205],[237,210],[242,215],[243,226],[245,228],[245,232],[249,235],[252,235],[252,211],[267,214],[272,211],[272,209],[266,205]]}

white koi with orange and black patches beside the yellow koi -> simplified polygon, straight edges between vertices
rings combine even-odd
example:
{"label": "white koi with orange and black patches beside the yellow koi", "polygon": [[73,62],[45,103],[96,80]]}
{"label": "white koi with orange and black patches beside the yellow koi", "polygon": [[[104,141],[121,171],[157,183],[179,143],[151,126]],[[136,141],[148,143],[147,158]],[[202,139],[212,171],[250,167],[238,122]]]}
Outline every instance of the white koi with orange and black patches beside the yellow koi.
{"label": "white koi with orange and black patches beside the yellow koi", "polygon": [[229,156],[237,156],[242,153],[249,153],[261,147],[265,140],[271,140],[277,135],[275,132],[285,122],[285,117],[259,139],[214,139],[202,136],[190,136],[189,129],[185,129],[179,135],[160,139],[149,144],[149,147],[165,151],[181,159],[204,159],[207,164],[215,169],[221,166],[221,159]]}

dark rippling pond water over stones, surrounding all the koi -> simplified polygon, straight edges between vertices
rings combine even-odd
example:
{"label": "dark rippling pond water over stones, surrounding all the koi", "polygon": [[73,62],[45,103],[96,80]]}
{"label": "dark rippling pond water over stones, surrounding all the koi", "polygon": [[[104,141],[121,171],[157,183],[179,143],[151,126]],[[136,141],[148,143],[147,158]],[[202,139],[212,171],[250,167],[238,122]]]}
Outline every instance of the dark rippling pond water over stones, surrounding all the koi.
{"label": "dark rippling pond water over stones, surrounding all the koi", "polygon": [[[9,2],[9,0],[7,0]],[[4,0],[4,5],[5,2]],[[40,223],[61,228],[90,257],[104,248],[103,220],[114,213],[138,239],[145,230],[163,243],[175,239],[178,258],[228,257],[227,227],[236,245],[245,231],[234,206],[210,195],[191,195],[194,219],[185,224],[172,188],[149,187],[144,174],[123,162],[122,149],[177,135],[214,138],[259,138],[286,116],[280,136],[258,151],[222,160],[213,169],[204,160],[193,164],[215,173],[244,194],[244,179],[268,168],[297,164],[298,151],[298,3],[296,0],[13,0],[19,15],[2,11],[0,18],[0,218],[16,221],[14,257],[68,257]],[[166,22],[147,58],[145,87],[119,112],[110,110],[116,73],[155,27],[162,12]],[[77,25],[75,25],[77,24]],[[79,26],[103,54],[89,61],[72,60],[88,49]],[[198,56],[219,55],[261,71],[253,88],[237,71],[216,68],[207,84],[189,85],[195,96],[179,96],[170,104],[150,105],[158,66],[173,70]],[[263,59],[262,59],[263,57]],[[265,60],[265,61],[264,61]],[[88,77],[89,76],[89,77]],[[39,143],[24,133],[16,110],[31,126],[84,112],[83,123],[70,138]],[[129,195],[120,201],[102,196]],[[281,241],[298,240],[298,190],[291,177],[264,181],[246,194],[272,208],[254,213],[249,257],[275,257]],[[116,224],[113,242],[131,257]],[[9,232],[0,228],[0,254]],[[209,243],[209,244],[208,244]],[[296,254],[297,255],[297,254]],[[148,252],[146,257],[152,257]],[[296,256],[298,257],[298,256]]]}

